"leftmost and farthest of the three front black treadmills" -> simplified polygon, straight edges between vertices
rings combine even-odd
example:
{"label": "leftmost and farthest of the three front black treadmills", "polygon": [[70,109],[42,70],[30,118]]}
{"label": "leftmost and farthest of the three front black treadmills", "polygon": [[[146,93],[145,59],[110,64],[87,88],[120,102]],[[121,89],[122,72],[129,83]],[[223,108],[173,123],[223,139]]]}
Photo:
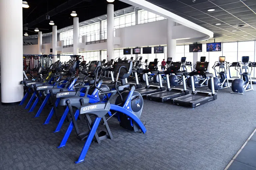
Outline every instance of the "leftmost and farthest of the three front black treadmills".
{"label": "leftmost and farthest of the three front black treadmills", "polygon": [[151,93],[165,91],[165,87],[163,87],[162,81],[159,81],[160,86],[153,86],[153,85],[149,85],[149,83],[148,83],[148,73],[149,72],[151,72],[153,74],[158,74],[158,78],[159,78],[159,80],[161,80],[161,74],[158,73],[159,71],[157,68],[157,63],[158,63],[158,61],[156,61],[156,60],[151,61],[151,62],[149,62],[148,69],[142,70],[142,72],[145,75],[145,79],[146,79],[146,87],[135,90],[135,91],[139,92],[141,94],[141,96],[147,96],[148,94],[151,94]]}

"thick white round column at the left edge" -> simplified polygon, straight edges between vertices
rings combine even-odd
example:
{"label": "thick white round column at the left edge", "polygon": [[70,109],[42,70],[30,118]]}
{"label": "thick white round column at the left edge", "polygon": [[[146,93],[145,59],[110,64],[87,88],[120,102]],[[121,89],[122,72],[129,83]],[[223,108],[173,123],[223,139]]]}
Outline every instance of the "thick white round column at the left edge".
{"label": "thick white round column at the left edge", "polygon": [[19,104],[23,98],[22,1],[0,0],[1,102]]}

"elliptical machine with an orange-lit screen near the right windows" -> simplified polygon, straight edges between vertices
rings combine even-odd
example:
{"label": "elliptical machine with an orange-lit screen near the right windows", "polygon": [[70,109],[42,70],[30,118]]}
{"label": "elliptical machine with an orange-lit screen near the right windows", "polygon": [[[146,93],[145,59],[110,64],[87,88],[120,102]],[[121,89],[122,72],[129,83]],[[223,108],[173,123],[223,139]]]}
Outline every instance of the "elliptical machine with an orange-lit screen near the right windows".
{"label": "elliptical machine with an orange-lit screen near the right windows", "polygon": [[[225,57],[221,56],[219,57],[219,61],[216,61],[212,68],[215,71],[215,76],[213,77],[213,82],[214,82],[214,89],[215,91],[218,91],[220,89],[225,89],[229,88],[229,81],[228,81],[228,76],[227,76],[227,66],[228,62],[225,61]],[[216,70],[216,67],[219,67],[219,71]],[[217,76],[217,74],[219,74]],[[208,88],[211,90],[212,84],[211,81],[208,83]]]}

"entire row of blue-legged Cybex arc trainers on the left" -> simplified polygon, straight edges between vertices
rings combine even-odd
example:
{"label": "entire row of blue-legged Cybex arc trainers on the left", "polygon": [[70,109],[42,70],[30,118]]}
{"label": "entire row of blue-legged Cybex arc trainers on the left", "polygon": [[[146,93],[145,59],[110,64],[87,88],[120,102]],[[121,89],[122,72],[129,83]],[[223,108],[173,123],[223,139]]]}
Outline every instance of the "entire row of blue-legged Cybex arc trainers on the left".
{"label": "entire row of blue-legged Cybex arc trainers on the left", "polygon": [[[44,78],[35,78],[34,81],[21,81],[21,84],[24,85],[25,95],[20,105],[23,105],[27,101],[26,99],[30,98],[26,108],[29,109],[33,103],[31,107],[33,109],[30,108],[30,112],[32,112],[37,109],[35,106],[39,104],[40,107],[35,116],[39,117],[44,106],[48,106],[52,102],[52,108],[45,124],[50,122],[54,113],[59,120],[54,132],[61,130],[65,120],[69,121],[69,126],[58,147],[66,145],[72,129],[75,128],[77,138],[85,140],[84,147],[76,161],[76,163],[79,163],[84,160],[92,141],[100,143],[103,139],[113,139],[108,126],[109,119],[117,119],[122,128],[135,132],[145,133],[146,128],[140,121],[143,98],[138,92],[134,91],[135,87],[133,85],[125,82],[132,71],[130,60],[117,62],[114,70],[116,80],[112,89],[103,85],[103,81],[99,79],[103,72],[100,61],[92,61],[88,67],[84,67],[82,70],[84,79],[82,81],[77,81],[77,77],[74,76],[75,66],[75,61],[70,62],[67,69],[62,70],[61,62],[58,61],[54,63]],[[66,78],[63,78],[64,75]],[[118,85],[118,79],[120,85]],[[115,94],[118,97],[115,104],[111,104],[110,102]],[[65,107],[64,113],[59,113],[59,106]],[[86,119],[88,131],[81,133],[76,122],[77,118],[82,116]],[[91,119],[92,116],[95,117],[94,122]],[[80,119],[80,121],[82,120],[84,119]],[[97,130],[98,126],[104,126],[106,131],[99,132]]]}

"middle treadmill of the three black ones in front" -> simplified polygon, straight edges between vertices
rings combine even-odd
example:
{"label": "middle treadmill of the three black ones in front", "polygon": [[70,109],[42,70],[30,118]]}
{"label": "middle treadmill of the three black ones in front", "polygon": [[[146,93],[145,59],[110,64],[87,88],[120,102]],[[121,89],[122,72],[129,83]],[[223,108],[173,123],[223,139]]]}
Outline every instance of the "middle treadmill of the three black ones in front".
{"label": "middle treadmill of the three black ones in front", "polygon": [[[158,101],[158,102],[167,102],[173,98],[177,98],[177,97],[189,94],[189,90],[187,90],[186,88],[186,80],[185,80],[185,74],[184,74],[186,73],[186,70],[179,71],[180,67],[181,67],[181,62],[172,62],[168,70],[159,72],[158,74],[164,73],[166,75],[167,90],[149,94],[147,96],[147,99]],[[175,75],[182,76],[183,89],[176,89],[176,88],[170,87],[169,74],[172,74],[172,73],[174,73]]]}

